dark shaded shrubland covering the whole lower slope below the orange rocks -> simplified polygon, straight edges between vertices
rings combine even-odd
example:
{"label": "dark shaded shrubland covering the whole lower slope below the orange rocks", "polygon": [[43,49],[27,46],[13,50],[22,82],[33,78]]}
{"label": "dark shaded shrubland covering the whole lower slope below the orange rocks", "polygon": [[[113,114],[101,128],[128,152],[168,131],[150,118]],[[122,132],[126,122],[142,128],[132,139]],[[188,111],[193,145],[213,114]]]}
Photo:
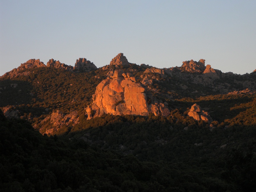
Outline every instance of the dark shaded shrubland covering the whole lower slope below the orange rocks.
{"label": "dark shaded shrubland covering the whole lower slope below the orange rocks", "polygon": [[[194,122],[185,131],[181,122],[160,116],[104,116],[95,121],[105,125],[69,140],[43,136],[26,121],[9,121],[1,115],[1,191],[251,191],[256,187],[254,127],[210,132]],[[86,136],[91,145],[84,141]],[[225,143],[227,147],[220,148]]]}

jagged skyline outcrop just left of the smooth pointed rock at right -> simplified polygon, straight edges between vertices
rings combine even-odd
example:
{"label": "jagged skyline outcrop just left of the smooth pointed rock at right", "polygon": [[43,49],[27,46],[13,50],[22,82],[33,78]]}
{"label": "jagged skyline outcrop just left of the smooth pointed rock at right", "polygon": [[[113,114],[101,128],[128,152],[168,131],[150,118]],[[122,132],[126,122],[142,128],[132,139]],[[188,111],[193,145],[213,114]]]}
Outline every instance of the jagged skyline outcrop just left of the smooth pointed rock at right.
{"label": "jagged skyline outcrop just left of the smooth pointed rock at right", "polygon": [[190,72],[190,73],[203,73],[205,70],[205,60],[200,59],[198,62],[194,60],[190,61],[183,61],[182,66],[180,67],[181,71],[183,72]]}

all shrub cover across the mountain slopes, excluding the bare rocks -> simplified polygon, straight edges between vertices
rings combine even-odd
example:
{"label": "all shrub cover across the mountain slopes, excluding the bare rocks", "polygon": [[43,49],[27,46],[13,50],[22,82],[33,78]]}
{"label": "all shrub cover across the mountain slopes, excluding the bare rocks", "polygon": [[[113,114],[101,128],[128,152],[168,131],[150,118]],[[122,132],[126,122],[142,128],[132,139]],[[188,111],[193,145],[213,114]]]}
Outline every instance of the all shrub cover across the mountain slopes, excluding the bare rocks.
{"label": "all shrub cover across the mountain slopes, excluding the bare rocks", "polygon": [[[146,75],[145,68],[135,64],[121,68],[138,81]],[[84,108],[92,102],[107,71],[25,71],[27,76],[0,79],[0,107],[12,106],[22,116],[9,120],[0,111],[1,191],[229,192],[256,188],[255,94],[220,94],[179,76],[147,73],[154,76],[153,84],[147,86],[169,104],[170,116],[104,115],[86,120]],[[226,82],[243,89],[237,82],[254,78],[251,74],[235,77],[217,79],[215,84]],[[181,84],[188,88],[181,89]],[[213,128],[187,116],[194,103],[210,112]],[[33,129],[31,124],[40,123],[57,109],[63,114],[77,110],[79,124],[62,125],[52,136]],[[40,126],[46,130],[53,124],[48,118]]]}

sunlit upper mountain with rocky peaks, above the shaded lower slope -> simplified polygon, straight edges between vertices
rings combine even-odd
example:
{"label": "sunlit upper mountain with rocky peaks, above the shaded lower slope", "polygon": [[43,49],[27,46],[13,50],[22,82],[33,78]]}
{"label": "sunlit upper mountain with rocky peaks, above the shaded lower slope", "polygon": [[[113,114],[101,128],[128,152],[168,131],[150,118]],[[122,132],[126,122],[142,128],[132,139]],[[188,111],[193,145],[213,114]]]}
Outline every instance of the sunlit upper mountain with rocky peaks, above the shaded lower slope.
{"label": "sunlit upper mountain with rocky peaks, above the shaded lower slope", "polygon": [[[205,66],[204,59],[184,61],[181,67],[164,69],[129,63],[123,53],[98,69],[85,58],[77,59],[75,67],[54,59],[45,66],[40,60],[32,59],[1,77],[0,94],[4,98],[1,107],[6,116],[25,118],[40,132],[54,134],[79,124],[82,116],[88,120],[105,114],[167,117],[175,108],[186,111],[193,105],[180,103],[183,98],[255,95],[255,76],[255,72],[222,73],[211,65]],[[24,105],[44,108],[35,112]],[[221,121],[218,111],[210,117],[204,109],[191,108],[187,115],[208,124],[212,119]],[[56,114],[61,115],[54,123],[50,119]]]}

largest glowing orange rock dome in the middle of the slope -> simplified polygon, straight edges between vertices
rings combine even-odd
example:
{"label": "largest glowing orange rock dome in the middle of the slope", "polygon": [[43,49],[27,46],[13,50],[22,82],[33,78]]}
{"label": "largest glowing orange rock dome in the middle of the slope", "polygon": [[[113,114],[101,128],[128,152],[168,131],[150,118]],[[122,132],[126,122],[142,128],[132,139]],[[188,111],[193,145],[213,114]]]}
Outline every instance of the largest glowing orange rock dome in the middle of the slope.
{"label": "largest glowing orange rock dome in the middle of the slope", "polygon": [[111,77],[96,87],[92,105],[86,108],[88,119],[103,114],[147,116],[152,112],[170,115],[167,103],[158,103],[142,84],[136,83],[131,73],[115,70]]}

